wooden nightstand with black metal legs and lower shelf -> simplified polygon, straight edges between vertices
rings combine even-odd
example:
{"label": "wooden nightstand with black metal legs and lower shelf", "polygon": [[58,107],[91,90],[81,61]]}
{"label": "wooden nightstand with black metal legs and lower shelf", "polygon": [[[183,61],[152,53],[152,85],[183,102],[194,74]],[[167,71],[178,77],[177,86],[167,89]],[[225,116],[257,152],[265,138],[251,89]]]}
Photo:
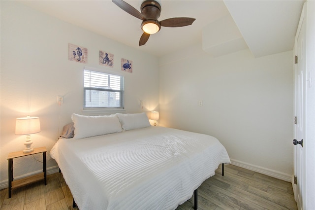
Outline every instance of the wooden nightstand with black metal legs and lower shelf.
{"label": "wooden nightstand with black metal legs and lower shelf", "polygon": [[[46,152],[47,152],[47,149],[45,146],[43,146],[43,147],[34,148],[34,151],[29,152],[29,153],[23,153],[23,151],[9,153],[8,158],[7,158],[9,161],[9,198],[11,198],[12,188],[20,187],[25,184],[38,181],[41,179],[44,179],[45,185],[47,184]],[[31,175],[29,177],[21,178],[21,179],[13,181],[13,158],[24,157],[24,156],[38,154],[38,153],[43,153],[43,173]]]}

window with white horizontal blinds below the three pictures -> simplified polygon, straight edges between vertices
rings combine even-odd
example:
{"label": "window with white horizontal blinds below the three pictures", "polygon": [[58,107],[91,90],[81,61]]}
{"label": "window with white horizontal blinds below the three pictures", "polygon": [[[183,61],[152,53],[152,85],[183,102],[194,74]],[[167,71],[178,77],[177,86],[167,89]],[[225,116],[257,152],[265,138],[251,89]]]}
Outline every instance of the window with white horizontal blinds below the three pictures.
{"label": "window with white horizontal blinds below the three pictures", "polygon": [[84,70],[84,108],[124,108],[124,76]]}

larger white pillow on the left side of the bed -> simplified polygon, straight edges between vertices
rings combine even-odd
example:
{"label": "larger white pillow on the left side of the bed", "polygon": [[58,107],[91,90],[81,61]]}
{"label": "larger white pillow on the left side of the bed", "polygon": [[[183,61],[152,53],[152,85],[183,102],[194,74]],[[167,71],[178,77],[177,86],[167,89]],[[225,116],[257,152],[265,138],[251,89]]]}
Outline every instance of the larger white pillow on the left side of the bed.
{"label": "larger white pillow on the left side of the bed", "polygon": [[72,114],[71,118],[75,128],[75,139],[122,132],[122,126],[115,115],[83,116]]}

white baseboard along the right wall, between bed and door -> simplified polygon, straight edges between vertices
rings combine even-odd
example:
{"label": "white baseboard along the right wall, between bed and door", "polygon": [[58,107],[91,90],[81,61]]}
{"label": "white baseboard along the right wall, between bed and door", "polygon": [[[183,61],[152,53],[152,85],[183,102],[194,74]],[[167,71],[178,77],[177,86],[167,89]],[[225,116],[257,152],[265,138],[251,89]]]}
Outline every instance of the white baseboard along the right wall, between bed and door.
{"label": "white baseboard along the right wall, between bed and door", "polygon": [[269,175],[271,177],[278,178],[278,179],[288,181],[291,183],[292,183],[292,176],[293,176],[293,180],[294,180],[294,175],[289,175],[289,174],[285,174],[285,173],[278,172],[275,170],[263,168],[260,166],[255,166],[255,165],[245,163],[242,161],[231,159],[231,164],[234,166],[239,166],[239,167],[244,168],[244,169],[248,169],[248,170],[263,174],[263,175]]}

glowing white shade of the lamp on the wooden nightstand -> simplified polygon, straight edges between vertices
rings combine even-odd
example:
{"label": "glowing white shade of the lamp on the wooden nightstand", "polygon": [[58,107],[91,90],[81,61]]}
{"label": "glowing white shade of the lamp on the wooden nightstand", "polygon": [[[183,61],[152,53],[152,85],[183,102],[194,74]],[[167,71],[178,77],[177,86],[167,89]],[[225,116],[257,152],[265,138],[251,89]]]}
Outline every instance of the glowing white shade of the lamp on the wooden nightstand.
{"label": "glowing white shade of the lamp on the wooden nightstand", "polygon": [[21,117],[16,118],[15,134],[16,135],[29,135],[40,132],[39,117]]}

